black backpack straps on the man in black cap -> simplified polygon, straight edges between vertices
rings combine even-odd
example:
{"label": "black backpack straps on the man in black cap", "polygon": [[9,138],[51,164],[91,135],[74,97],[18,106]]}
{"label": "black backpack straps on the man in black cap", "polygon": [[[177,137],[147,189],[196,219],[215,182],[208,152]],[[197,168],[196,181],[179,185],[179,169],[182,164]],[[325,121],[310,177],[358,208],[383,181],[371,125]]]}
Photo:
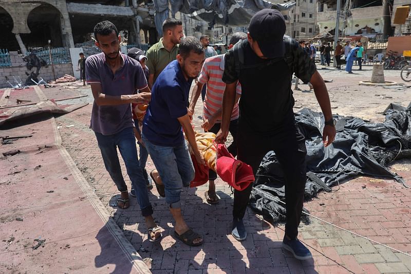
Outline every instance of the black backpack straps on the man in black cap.
{"label": "black backpack straps on the man in black cap", "polygon": [[292,39],[290,36],[284,35],[284,44],[286,47],[286,52],[284,54],[284,57],[278,57],[274,59],[270,59],[264,63],[259,63],[259,64],[252,64],[252,65],[245,65],[244,64],[244,40],[240,40],[237,44],[234,45],[233,47],[233,53],[234,53],[234,60],[235,60],[235,71],[237,72],[237,76],[240,75],[240,70],[241,69],[249,69],[249,68],[255,68],[255,69],[262,69],[264,67],[267,67],[269,65],[272,65],[274,63],[277,63],[278,61],[285,60],[288,68],[291,71],[291,76],[294,72],[294,64],[293,64],[293,56],[292,56],[292,50],[291,50],[291,45],[292,45]]}

